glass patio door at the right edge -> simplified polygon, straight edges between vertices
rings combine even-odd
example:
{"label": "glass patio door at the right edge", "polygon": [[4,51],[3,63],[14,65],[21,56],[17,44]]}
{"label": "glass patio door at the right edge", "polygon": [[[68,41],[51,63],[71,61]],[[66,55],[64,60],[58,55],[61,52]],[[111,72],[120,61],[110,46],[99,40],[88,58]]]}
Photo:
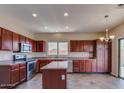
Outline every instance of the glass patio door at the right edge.
{"label": "glass patio door at the right edge", "polygon": [[124,39],[119,40],[119,77],[124,78]]}

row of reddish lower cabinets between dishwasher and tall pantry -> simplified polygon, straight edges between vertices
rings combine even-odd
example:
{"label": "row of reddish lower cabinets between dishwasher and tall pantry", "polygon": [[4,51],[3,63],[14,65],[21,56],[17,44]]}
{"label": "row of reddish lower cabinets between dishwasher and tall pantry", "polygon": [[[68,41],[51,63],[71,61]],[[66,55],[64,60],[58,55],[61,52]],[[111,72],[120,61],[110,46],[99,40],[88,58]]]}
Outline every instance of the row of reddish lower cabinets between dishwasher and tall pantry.
{"label": "row of reddish lower cabinets between dishwasher and tall pantry", "polygon": [[96,60],[73,60],[73,72],[96,72]]}

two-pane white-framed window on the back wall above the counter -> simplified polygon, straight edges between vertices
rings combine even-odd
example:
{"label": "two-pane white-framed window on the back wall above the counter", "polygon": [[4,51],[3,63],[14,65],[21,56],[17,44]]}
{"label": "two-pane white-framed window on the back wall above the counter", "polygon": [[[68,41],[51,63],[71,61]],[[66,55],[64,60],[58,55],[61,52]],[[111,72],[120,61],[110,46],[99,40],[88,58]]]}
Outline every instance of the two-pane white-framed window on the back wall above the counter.
{"label": "two-pane white-framed window on the back wall above the counter", "polygon": [[48,42],[48,55],[68,55],[68,42]]}

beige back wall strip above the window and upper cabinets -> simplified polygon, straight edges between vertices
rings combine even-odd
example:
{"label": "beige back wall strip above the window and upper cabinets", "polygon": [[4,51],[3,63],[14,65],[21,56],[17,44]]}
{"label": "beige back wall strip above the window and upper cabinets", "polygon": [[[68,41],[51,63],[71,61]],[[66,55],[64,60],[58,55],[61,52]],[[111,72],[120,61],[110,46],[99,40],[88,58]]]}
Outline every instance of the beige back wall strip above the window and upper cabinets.
{"label": "beige back wall strip above the window and upper cabinets", "polygon": [[69,41],[69,40],[95,40],[104,36],[104,33],[42,33],[35,34],[37,40],[45,41]]}

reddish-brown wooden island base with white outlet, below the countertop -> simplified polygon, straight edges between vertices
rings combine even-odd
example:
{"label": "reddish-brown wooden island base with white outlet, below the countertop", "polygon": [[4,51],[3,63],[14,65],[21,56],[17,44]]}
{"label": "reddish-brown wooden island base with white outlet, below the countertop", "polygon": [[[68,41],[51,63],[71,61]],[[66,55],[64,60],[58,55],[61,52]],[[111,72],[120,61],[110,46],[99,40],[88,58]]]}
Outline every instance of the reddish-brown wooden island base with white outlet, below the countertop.
{"label": "reddish-brown wooden island base with white outlet, below the countertop", "polygon": [[43,89],[66,89],[66,69],[43,69]]}

